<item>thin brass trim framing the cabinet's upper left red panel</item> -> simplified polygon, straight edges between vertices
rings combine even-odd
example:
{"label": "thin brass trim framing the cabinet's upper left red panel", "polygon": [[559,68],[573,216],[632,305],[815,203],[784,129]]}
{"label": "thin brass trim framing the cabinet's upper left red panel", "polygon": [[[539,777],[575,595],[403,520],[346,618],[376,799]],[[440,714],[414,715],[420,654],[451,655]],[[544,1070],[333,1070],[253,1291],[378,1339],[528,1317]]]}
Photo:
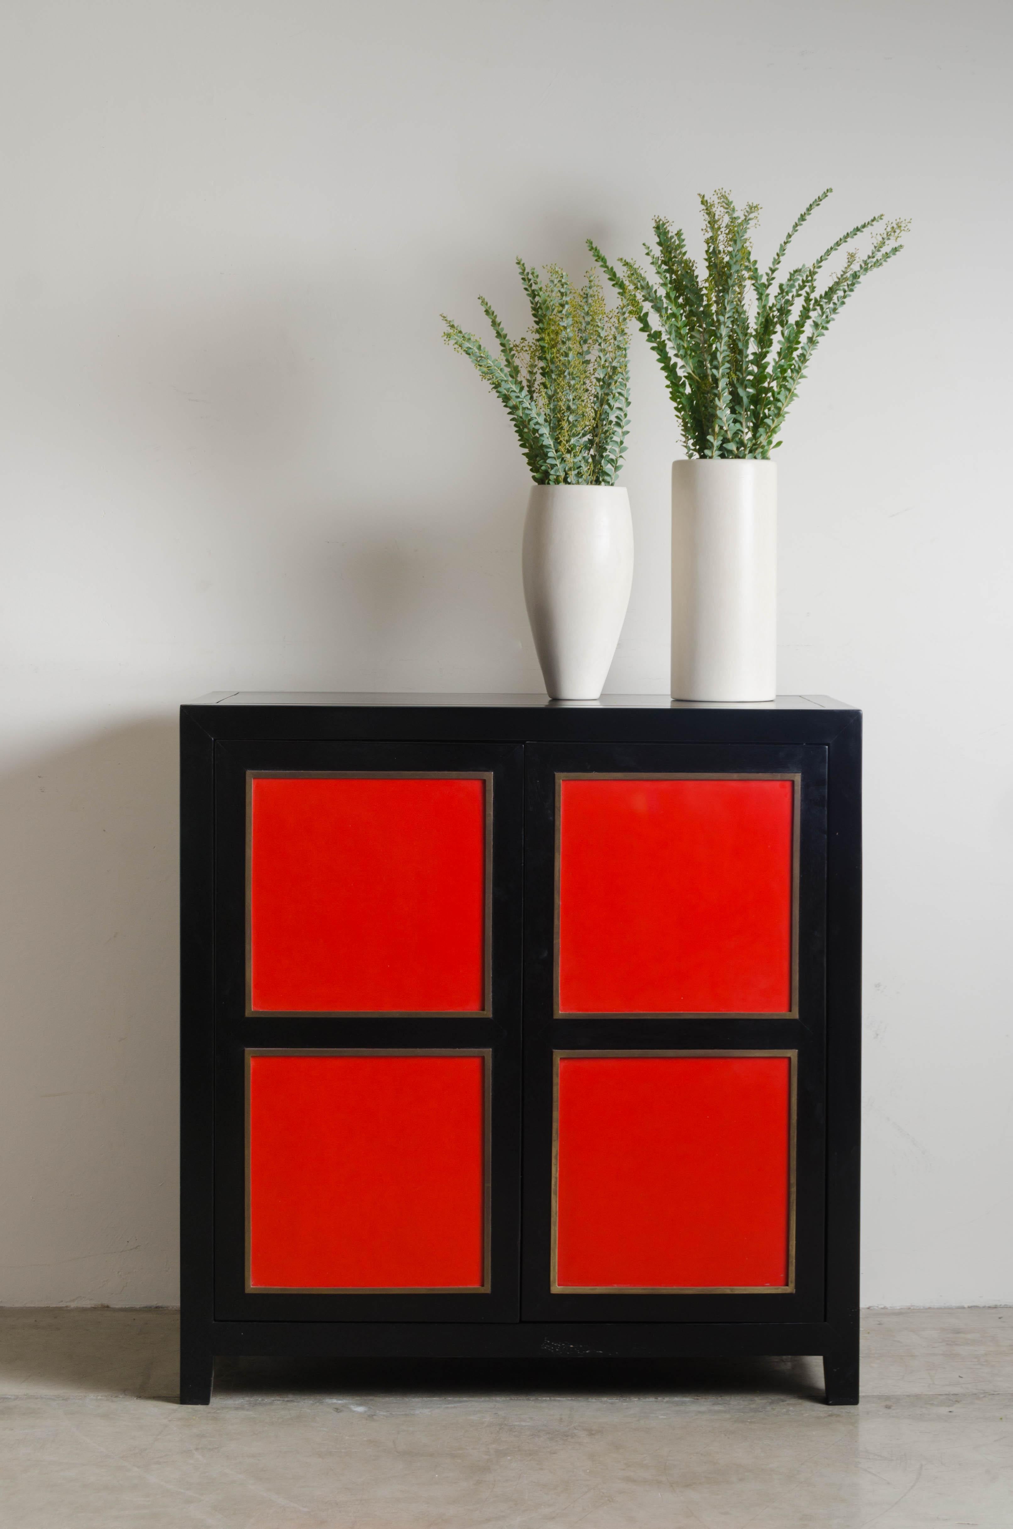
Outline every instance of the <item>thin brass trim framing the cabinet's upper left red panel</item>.
{"label": "thin brass trim framing the cabinet's upper left red panel", "polygon": [[[252,783],[254,780],[482,780],[485,781],[485,890],[480,1009],[254,1009],[252,1006]],[[246,998],[248,1020],[488,1020],[493,1017],[493,771],[480,769],[248,769],[246,771]]]}

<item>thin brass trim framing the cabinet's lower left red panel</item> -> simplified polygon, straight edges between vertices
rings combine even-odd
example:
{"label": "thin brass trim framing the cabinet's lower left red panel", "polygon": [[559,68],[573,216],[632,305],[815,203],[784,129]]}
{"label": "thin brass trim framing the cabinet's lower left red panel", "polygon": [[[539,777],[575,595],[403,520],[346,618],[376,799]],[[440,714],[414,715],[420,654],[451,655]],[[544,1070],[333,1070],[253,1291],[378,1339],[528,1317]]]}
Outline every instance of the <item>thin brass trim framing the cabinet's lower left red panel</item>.
{"label": "thin brass trim framing the cabinet's lower left red panel", "polygon": [[[482,1284],[378,1286],[350,1284],[251,1284],[251,1183],[249,1183],[249,1063],[254,1057],[480,1057],[482,1058]],[[248,1046],[245,1073],[245,1222],[246,1254],[243,1283],[246,1295],[490,1295],[493,1289],[493,1047],[491,1046]]]}

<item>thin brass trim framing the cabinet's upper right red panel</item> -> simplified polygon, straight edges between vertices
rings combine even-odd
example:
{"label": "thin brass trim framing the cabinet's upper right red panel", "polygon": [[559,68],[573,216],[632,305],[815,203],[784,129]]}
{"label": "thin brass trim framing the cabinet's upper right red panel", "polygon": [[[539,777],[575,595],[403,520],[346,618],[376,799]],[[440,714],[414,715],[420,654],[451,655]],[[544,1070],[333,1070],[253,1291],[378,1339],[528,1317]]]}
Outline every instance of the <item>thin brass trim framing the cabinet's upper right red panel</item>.
{"label": "thin brass trim framing the cabinet's upper right red panel", "polygon": [[[695,1014],[690,1009],[560,1009],[559,1003],[559,948],[560,948],[560,859],[563,839],[563,781],[565,780],[790,780],[791,790],[791,1008],[787,1011],[741,1011],[707,1009]],[[799,1018],[799,881],[802,864],[802,772],[800,771],[557,771],[555,772],[555,826],[554,826],[554,873],[552,873],[552,1018],[607,1018],[655,1020],[797,1020]]]}

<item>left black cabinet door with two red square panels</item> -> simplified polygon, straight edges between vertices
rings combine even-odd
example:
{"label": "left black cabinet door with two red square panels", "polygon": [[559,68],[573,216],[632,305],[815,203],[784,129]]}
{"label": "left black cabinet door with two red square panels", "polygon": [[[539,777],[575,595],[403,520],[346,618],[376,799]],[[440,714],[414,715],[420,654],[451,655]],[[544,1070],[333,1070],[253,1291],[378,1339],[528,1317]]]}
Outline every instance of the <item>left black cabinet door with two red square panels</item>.
{"label": "left black cabinet door with two red square panels", "polygon": [[516,1321],[522,751],[216,754],[216,1315]]}

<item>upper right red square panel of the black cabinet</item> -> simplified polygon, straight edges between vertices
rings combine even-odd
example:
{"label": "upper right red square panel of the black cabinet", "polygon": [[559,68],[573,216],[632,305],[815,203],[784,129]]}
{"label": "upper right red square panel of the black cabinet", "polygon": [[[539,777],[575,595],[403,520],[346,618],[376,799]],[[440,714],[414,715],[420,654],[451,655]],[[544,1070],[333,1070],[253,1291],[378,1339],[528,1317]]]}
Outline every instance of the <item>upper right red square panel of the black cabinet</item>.
{"label": "upper right red square panel of the black cabinet", "polygon": [[563,1014],[791,1009],[793,783],[565,780]]}

